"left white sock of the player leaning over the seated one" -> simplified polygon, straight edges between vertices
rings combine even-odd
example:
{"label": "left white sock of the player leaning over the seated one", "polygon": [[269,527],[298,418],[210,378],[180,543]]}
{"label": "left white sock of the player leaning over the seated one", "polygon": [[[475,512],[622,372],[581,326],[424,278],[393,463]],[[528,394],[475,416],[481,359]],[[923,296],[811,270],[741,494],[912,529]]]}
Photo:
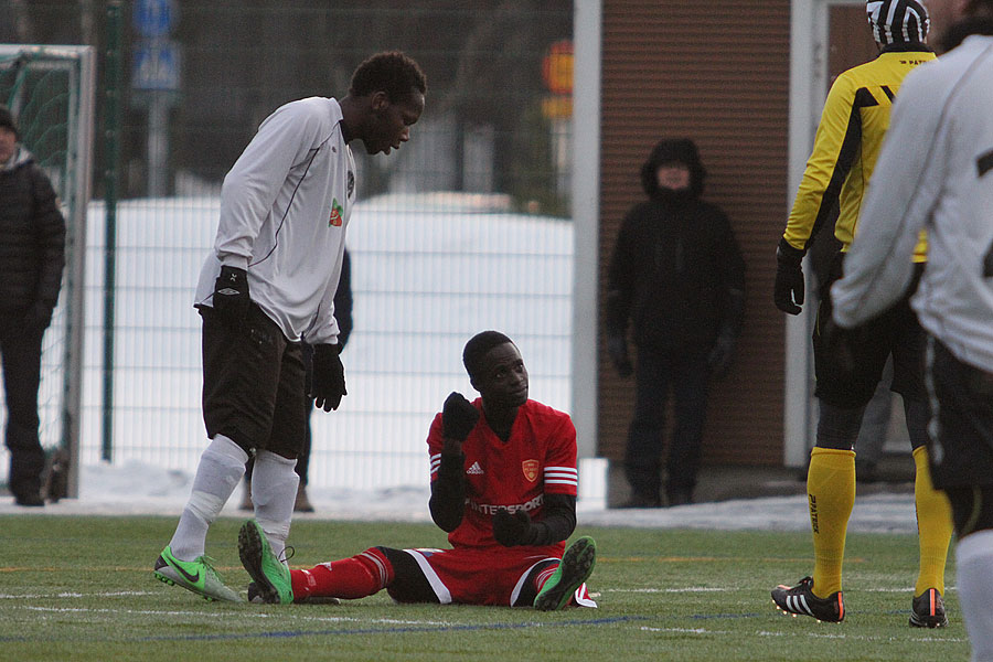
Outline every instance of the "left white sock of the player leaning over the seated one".
{"label": "left white sock of the player leaning over the seated one", "polygon": [[241,446],[223,435],[214,437],[200,456],[193,491],[169,543],[173,556],[180,560],[203,556],[207,528],[245,474],[247,461]]}

